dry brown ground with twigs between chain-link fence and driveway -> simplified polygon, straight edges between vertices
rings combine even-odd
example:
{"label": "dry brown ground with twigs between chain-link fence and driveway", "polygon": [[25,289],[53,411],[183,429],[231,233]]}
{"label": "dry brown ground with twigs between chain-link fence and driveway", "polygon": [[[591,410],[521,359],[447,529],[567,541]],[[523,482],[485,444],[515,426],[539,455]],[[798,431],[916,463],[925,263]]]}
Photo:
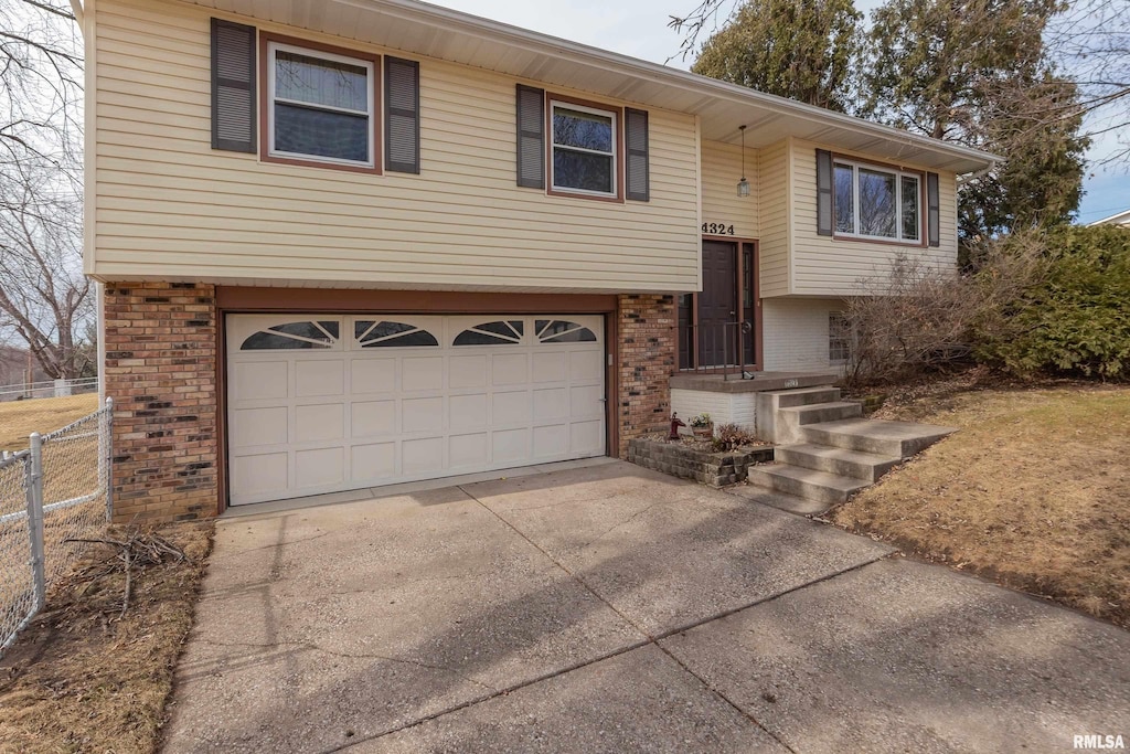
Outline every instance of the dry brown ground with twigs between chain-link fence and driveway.
{"label": "dry brown ground with twigs between chain-link fence and driveway", "polygon": [[212,525],[157,532],[188,560],[134,571],[124,615],[122,572],[62,580],[0,660],[0,752],[155,751]]}

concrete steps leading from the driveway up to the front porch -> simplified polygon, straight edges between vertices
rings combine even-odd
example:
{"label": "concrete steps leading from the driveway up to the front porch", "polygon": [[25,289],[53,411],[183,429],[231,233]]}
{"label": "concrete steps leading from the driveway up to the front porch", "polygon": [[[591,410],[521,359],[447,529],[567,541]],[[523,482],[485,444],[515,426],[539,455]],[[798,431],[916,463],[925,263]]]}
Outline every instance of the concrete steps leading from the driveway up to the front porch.
{"label": "concrete steps leading from the driveway up to the front porch", "polygon": [[786,495],[827,510],[954,432],[864,419],[862,413],[861,405],[840,400],[840,390],[832,387],[760,393],[758,432],[779,444],[773,463],[749,467],[747,483],[764,491],[750,499]]}

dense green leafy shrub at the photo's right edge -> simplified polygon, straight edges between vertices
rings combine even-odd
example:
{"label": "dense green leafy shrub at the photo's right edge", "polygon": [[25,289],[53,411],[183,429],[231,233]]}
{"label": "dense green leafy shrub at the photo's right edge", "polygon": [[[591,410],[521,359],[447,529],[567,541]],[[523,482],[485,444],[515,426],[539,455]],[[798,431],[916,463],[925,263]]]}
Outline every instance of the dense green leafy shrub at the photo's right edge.
{"label": "dense green leafy shrub at the photo's right edge", "polygon": [[1070,227],[1048,240],[1048,271],[977,330],[977,356],[1019,375],[1130,379],[1130,231]]}

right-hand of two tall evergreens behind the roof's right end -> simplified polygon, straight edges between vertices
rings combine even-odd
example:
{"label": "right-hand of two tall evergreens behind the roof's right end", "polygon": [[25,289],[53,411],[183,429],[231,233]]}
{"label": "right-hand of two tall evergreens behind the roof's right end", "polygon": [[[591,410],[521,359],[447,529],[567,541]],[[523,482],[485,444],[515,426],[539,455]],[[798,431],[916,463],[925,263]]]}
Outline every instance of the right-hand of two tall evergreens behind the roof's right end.
{"label": "right-hand of two tall evergreens behind the roof's right end", "polygon": [[1043,41],[1059,10],[1058,0],[889,0],[875,11],[863,112],[1006,158],[963,187],[965,239],[1064,223],[1078,208],[1083,109]]}

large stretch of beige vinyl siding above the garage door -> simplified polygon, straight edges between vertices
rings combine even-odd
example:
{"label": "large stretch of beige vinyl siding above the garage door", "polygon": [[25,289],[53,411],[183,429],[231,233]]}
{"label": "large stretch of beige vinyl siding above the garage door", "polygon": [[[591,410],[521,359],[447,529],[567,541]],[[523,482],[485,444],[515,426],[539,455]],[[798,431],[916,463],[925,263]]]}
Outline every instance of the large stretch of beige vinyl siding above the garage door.
{"label": "large stretch of beige vinyl siding above the garage door", "polygon": [[420,175],[260,163],[255,155],[211,149],[208,12],[156,0],[98,0],[95,12],[97,177],[88,269],[102,279],[697,287],[692,115],[649,111],[650,202],[547,197],[515,185],[515,80],[420,59]]}

